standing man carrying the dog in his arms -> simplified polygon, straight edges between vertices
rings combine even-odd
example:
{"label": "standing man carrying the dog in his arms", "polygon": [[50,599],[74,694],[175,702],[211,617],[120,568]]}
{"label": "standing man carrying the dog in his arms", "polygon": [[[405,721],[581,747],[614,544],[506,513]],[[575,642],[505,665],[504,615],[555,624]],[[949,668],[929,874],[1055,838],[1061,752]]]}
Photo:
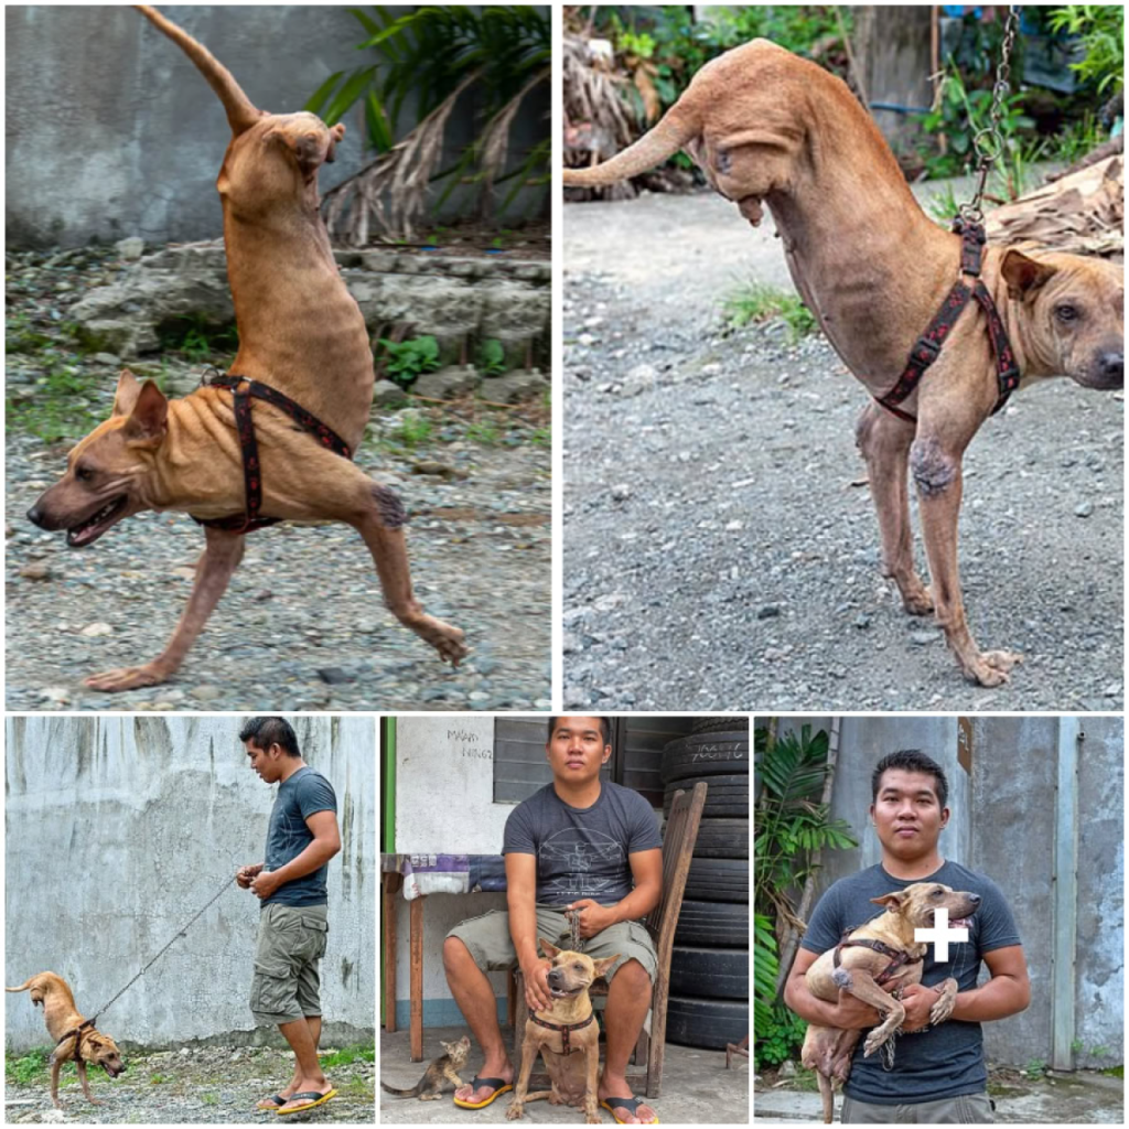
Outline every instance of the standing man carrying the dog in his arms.
{"label": "standing man carrying the dog in his arms", "polygon": [[[808,1023],[863,1030],[882,1022],[878,1012],[848,991],[839,1003],[820,1000],[808,990],[805,973],[821,954],[848,931],[878,917],[872,900],[914,883],[936,882],[979,895],[968,924],[969,940],[951,943],[947,963],[925,959],[921,982],[903,990],[905,1009],[893,1069],[883,1054],[864,1057],[856,1047],[843,1087],[841,1120],[846,1123],[991,1122],[980,1024],[1022,1012],[1031,1000],[1026,960],[1004,895],[994,882],[944,859],[937,843],[948,823],[948,781],[925,753],[904,750],[883,758],[872,777],[870,817],[882,844],[882,861],[840,878],[820,899],[800,942],[785,987],[785,1003]],[[991,980],[977,987],[981,960]],[[949,977],[957,983],[947,1022],[929,1026],[929,1012],[940,998],[931,984]],[[960,1022],[957,1022],[960,1021]]]}

